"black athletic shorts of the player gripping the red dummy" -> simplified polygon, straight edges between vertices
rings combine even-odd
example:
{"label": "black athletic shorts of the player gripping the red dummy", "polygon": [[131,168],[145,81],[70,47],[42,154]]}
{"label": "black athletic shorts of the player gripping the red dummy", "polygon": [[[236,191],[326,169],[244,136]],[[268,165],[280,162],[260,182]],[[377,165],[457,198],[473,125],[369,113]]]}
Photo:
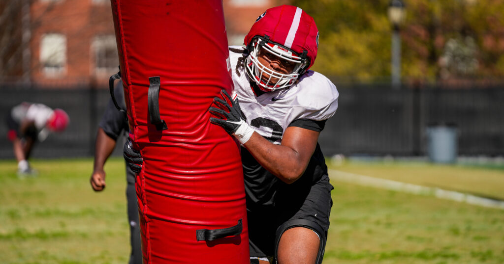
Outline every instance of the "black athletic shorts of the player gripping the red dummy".
{"label": "black athletic shorts of the player gripping the red dummy", "polygon": [[324,236],[327,237],[329,214],[333,205],[331,199],[333,189],[328,175],[324,175],[318,182],[311,185],[311,188],[303,188],[306,191],[299,193],[279,190],[276,194],[275,205],[270,208],[249,210],[247,207],[250,256],[275,256],[275,243],[276,239],[279,239],[275,237],[277,228],[293,219],[305,219],[317,223],[324,230]]}

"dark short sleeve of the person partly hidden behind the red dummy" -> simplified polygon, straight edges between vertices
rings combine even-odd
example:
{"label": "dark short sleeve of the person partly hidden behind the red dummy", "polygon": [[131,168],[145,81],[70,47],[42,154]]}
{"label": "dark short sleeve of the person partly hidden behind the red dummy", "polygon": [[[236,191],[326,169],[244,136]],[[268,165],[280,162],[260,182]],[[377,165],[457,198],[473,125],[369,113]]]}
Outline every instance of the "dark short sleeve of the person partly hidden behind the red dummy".
{"label": "dark short sleeve of the person partly hidden behind the red dummy", "polygon": [[[119,107],[125,109],[124,92],[122,90],[122,82],[120,81],[114,88],[114,96]],[[100,121],[99,127],[101,127],[105,134],[113,140],[117,140],[122,131],[128,130],[128,116],[126,113],[119,112],[119,110],[115,108],[111,98],[108,100],[108,104]]]}

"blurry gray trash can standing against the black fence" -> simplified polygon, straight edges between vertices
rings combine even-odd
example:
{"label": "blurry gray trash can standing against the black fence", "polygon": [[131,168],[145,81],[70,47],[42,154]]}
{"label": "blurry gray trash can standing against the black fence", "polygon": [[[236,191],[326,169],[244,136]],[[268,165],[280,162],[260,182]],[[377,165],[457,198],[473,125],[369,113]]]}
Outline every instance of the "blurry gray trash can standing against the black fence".
{"label": "blurry gray trash can standing against the black fence", "polygon": [[457,161],[457,126],[454,123],[432,123],[427,126],[427,153],[434,163]]}

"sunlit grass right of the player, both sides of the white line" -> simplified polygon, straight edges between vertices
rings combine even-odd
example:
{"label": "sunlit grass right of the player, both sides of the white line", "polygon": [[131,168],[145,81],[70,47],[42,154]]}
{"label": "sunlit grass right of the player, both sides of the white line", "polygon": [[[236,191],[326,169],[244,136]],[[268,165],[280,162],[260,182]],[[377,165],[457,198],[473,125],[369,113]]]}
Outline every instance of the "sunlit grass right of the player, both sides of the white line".
{"label": "sunlit grass right of the player, both sides of the white line", "polygon": [[[349,162],[332,168],[430,186],[451,187],[459,179],[454,189],[494,196],[504,190],[504,173],[495,169],[401,162]],[[486,183],[474,184],[473,175]],[[504,210],[332,184],[325,264],[504,262]]]}

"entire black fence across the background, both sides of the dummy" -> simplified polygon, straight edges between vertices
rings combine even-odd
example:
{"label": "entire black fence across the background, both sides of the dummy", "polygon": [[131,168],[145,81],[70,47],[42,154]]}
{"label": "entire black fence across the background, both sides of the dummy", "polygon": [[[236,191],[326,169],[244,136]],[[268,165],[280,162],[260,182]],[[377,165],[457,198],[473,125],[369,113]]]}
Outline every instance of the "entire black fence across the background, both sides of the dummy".
{"label": "entire black fence across the background, both sides of the dummy", "polygon": [[[314,87],[316,89],[316,87]],[[23,101],[61,108],[70,115],[65,132],[51,134],[33,150],[34,157],[93,155],[99,120],[110,98],[108,89],[90,85],[51,89],[0,84],[0,114]],[[450,123],[458,129],[461,155],[504,155],[504,89],[392,90],[379,85],[339,89],[339,107],[320,136],[324,154],[425,155],[426,128]],[[119,155],[116,148],[114,155]],[[5,122],[0,126],[0,158],[13,158]]]}

